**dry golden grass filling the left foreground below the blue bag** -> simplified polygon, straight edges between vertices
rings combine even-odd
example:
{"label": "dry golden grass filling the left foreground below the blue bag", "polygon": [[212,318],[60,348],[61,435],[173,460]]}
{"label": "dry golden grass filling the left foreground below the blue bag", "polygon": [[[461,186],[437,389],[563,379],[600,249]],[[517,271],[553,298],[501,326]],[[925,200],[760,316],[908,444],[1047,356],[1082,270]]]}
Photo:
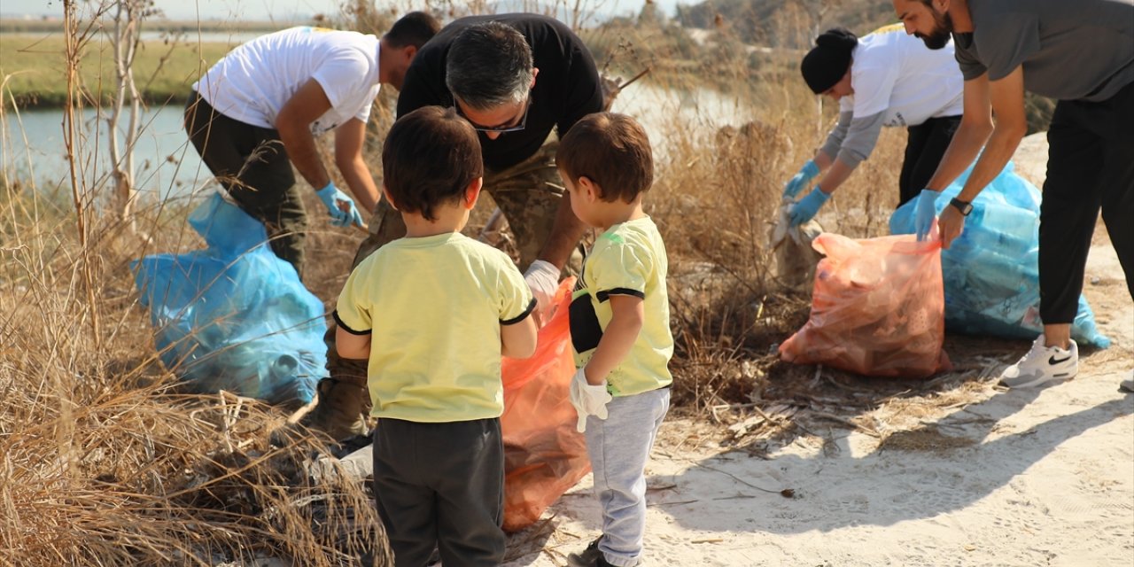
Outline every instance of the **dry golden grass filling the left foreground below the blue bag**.
{"label": "dry golden grass filling the left foreground below the blue bag", "polygon": [[196,243],[145,211],[151,234],[174,236],[141,246],[96,226],[84,255],[66,215],[34,196],[2,204],[0,565],[340,565],[384,553],[364,486],[308,481],[314,443],[269,446],[278,408],[175,392],[126,264]]}

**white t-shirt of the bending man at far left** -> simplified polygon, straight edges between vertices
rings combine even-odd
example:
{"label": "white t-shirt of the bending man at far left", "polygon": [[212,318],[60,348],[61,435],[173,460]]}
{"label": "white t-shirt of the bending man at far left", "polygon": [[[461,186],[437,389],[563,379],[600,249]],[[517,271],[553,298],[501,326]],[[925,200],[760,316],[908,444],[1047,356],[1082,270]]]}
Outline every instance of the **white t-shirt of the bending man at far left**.
{"label": "white t-shirt of the bending man at far left", "polygon": [[378,49],[373,35],[291,27],[237,46],[193,90],[234,120],[276,128],[280,109],[313,78],[331,101],[331,109],[311,122],[318,136],[352,118],[370,118],[379,88]]}

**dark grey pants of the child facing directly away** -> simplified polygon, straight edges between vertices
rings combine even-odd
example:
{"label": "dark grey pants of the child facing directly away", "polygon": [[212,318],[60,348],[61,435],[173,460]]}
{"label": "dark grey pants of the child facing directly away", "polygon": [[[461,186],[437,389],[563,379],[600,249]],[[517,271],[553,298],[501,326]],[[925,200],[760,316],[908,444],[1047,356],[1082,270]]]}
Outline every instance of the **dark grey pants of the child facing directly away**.
{"label": "dark grey pants of the child facing directly away", "polygon": [[437,545],[446,567],[503,561],[500,420],[379,420],[374,501],[397,567],[424,567]]}

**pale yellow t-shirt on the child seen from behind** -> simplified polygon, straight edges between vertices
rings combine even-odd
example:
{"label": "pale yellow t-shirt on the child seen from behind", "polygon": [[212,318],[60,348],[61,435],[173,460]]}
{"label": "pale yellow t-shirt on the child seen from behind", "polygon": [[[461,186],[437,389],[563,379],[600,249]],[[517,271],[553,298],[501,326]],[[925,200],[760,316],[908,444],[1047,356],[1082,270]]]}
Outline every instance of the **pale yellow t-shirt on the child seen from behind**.
{"label": "pale yellow t-shirt on the child seen from behind", "polygon": [[503,413],[500,325],[534,307],[505,253],[451,232],[371,254],[342,286],[335,320],[371,333],[371,415],[443,423]]}

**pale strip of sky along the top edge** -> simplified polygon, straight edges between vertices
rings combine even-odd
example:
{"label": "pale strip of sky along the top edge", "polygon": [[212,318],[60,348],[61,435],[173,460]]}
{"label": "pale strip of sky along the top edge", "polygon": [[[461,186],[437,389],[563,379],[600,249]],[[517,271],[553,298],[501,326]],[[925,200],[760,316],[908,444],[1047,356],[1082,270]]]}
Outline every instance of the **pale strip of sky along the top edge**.
{"label": "pale strip of sky along the top edge", "polygon": [[[697,0],[655,1],[659,8],[672,14],[676,5],[695,3]],[[592,0],[592,2],[602,11],[627,15],[641,10],[645,0]],[[340,3],[341,0],[155,0],[155,6],[170,19],[306,19],[315,14],[336,14]],[[392,0],[378,3],[401,8],[407,1]],[[62,0],[0,0],[0,16],[61,16],[62,5]]]}

